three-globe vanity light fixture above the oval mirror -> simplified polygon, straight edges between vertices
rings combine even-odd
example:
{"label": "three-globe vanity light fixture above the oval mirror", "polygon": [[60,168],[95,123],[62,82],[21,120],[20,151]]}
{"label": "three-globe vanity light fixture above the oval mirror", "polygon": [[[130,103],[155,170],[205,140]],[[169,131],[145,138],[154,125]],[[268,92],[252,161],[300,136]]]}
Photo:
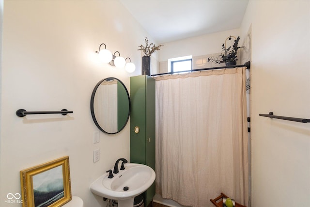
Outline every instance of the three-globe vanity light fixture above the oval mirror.
{"label": "three-globe vanity light fixture above the oval mirror", "polygon": [[[102,45],[105,46],[104,49],[101,49]],[[130,58],[124,59],[123,57],[121,57],[119,51],[114,52],[114,54],[112,55],[112,53],[107,49],[107,46],[104,43],[102,43],[99,46],[99,52],[96,51],[96,53],[98,53],[99,60],[103,63],[109,63],[110,65],[118,67],[118,68],[124,68],[125,67],[125,70],[128,73],[132,73],[136,70],[136,65],[131,63]],[[115,56],[116,53],[118,53],[118,56]],[[127,59],[129,59],[128,63],[126,63]]]}

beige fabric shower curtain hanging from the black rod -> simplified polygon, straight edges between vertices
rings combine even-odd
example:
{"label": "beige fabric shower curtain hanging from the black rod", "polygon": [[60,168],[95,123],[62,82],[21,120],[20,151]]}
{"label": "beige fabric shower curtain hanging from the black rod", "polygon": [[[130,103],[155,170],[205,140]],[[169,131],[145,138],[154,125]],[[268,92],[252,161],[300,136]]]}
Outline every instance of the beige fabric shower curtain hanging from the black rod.
{"label": "beige fabric shower curtain hanging from the black rod", "polygon": [[156,192],[212,207],[248,205],[246,67],[156,77]]}

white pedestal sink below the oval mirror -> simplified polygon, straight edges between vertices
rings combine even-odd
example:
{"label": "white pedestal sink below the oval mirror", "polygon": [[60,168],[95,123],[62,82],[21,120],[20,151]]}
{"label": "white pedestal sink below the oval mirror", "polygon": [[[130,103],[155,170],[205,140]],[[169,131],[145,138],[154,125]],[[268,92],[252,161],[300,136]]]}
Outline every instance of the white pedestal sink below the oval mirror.
{"label": "white pedestal sink below the oval mirror", "polygon": [[104,198],[117,200],[118,207],[133,207],[134,198],[146,191],[155,180],[155,172],[147,165],[125,163],[125,169],[113,174],[101,175],[95,180],[91,191]]}

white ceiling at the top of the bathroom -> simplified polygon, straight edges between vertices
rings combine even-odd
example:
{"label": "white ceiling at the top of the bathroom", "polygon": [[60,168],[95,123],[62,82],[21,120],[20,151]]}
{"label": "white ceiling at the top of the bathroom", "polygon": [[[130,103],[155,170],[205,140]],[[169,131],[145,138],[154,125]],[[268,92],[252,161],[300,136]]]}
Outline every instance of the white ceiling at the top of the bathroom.
{"label": "white ceiling at the top of the bathroom", "polygon": [[120,0],[157,43],[240,28],[248,0]]}

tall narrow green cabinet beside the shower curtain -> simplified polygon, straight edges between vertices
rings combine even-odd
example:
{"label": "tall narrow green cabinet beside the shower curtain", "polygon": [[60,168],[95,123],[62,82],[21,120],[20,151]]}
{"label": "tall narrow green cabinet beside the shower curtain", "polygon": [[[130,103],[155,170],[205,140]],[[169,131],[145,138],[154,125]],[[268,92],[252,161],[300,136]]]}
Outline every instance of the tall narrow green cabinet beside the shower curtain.
{"label": "tall narrow green cabinet beside the shower curtain", "polygon": [[[155,171],[155,79],[147,75],[130,77],[130,101],[130,162]],[[143,193],[144,207],[154,195],[155,182]]]}

